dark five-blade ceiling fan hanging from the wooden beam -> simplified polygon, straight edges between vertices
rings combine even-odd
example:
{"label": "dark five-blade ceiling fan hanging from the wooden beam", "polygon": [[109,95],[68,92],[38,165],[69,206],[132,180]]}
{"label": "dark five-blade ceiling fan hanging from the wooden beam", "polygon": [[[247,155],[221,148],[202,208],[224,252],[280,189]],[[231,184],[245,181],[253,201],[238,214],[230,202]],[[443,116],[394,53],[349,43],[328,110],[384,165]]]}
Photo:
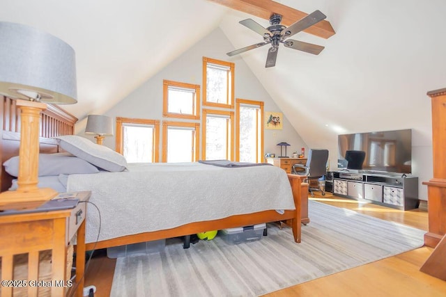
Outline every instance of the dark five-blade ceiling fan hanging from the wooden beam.
{"label": "dark five-blade ceiling fan hanging from the wooden beam", "polygon": [[252,31],[262,35],[263,42],[256,43],[255,45],[249,45],[249,47],[236,49],[235,51],[230,51],[226,54],[228,56],[234,56],[245,51],[249,51],[249,49],[256,49],[257,47],[263,47],[263,45],[271,44],[270,49],[268,49],[265,67],[274,67],[276,65],[277,51],[279,51],[280,43],[283,43],[285,47],[289,47],[290,49],[297,49],[299,51],[305,51],[309,54],[318,55],[324,49],[324,47],[321,45],[313,45],[311,43],[286,38],[307,29],[309,26],[313,26],[314,24],[321,22],[321,20],[325,19],[325,17],[326,16],[323,13],[316,10],[306,17],[298,20],[298,22],[286,27],[280,24],[282,21],[282,15],[274,13],[270,17],[270,26],[268,26],[268,28],[263,28],[263,26],[257,22],[254,22],[252,19],[244,19],[243,21],[240,21],[240,24],[243,24],[243,26],[247,26]]}

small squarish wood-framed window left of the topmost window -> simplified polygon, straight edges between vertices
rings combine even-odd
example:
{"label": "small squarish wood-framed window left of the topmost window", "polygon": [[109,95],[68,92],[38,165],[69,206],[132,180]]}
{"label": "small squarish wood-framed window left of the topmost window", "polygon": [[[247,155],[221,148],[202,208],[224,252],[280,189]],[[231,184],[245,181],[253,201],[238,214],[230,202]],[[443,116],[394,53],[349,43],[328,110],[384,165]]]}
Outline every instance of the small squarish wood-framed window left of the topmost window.
{"label": "small squarish wood-framed window left of the topmost window", "polygon": [[162,115],[169,118],[199,120],[200,86],[163,81]]}

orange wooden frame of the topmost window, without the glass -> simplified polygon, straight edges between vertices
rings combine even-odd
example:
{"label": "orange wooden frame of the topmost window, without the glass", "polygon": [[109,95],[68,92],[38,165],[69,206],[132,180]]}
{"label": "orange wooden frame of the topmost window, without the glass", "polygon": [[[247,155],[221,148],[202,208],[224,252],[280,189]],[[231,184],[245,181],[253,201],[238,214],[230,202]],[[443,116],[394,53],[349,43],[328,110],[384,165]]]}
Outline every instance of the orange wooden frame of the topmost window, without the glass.
{"label": "orange wooden frame of the topmost window, without the glass", "polygon": [[[226,86],[227,89],[227,95],[226,102],[229,102],[227,104],[223,103],[215,103],[215,102],[208,102],[207,101],[207,67],[209,64],[215,64],[215,65],[222,65],[224,67],[229,67],[229,74],[231,74],[231,77],[228,78],[228,82],[230,86]],[[231,62],[226,61],[220,61],[213,58],[207,58],[203,57],[203,106],[212,106],[212,107],[221,107],[226,109],[234,109],[234,81],[235,81],[235,64]]]}

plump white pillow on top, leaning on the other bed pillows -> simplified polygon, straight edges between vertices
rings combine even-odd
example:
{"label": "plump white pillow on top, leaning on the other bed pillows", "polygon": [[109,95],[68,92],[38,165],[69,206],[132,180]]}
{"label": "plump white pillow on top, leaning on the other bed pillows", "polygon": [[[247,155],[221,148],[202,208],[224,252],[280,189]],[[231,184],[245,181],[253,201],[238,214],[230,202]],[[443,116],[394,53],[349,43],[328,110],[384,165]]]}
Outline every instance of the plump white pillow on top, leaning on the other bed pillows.
{"label": "plump white pillow on top, leaning on the other bed pillows", "polygon": [[98,145],[87,138],[77,135],[57,136],[54,138],[57,139],[63,150],[103,170],[118,172],[127,169],[127,161],[124,156],[109,147]]}

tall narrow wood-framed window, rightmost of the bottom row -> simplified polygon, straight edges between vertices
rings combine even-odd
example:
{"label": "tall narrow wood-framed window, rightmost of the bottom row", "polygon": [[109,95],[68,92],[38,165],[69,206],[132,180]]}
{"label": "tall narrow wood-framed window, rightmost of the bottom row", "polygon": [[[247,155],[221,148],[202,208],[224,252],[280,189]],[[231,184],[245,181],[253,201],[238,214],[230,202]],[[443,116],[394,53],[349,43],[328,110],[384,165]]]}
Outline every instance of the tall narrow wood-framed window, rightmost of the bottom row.
{"label": "tall narrow wood-framed window, rightmost of the bottom row", "polygon": [[263,102],[237,99],[236,161],[263,162]]}

